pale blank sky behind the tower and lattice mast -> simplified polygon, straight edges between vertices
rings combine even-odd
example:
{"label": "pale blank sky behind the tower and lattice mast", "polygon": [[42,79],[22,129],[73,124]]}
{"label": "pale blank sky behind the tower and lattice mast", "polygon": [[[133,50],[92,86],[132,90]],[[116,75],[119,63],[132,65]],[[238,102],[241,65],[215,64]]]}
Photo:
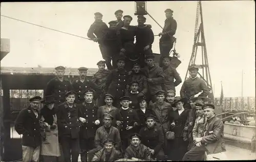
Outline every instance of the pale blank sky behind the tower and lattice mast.
{"label": "pale blank sky behind the tower and lattice mast", "polygon": [[[182,63],[177,68],[182,83],[190,59],[196,19],[196,1],[147,2],[147,11],[161,26],[164,10],[174,10],[178,29],[176,50]],[[244,72],[244,97],[255,96],[255,3],[253,1],[203,1],[203,19],[206,48],[215,97],[220,96],[221,81],[224,97],[239,97]],[[29,21],[63,32],[87,37],[94,21],[94,13],[101,12],[108,24],[115,20],[114,12],[133,16],[131,25],[137,25],[134,2],[59,2],[59,3],[1,3],[1,14]],[[146,15],[155,35],[161,28]],[[1,66],[20,67],[97,67],[102,60],[98,44],[25,24],[1,16],[1,38],[9,38],[11,52]],[[159,53],[159,37],[155,37],[153,52]],[[200,58],[201,60],[201,58]],[[176,88],[179,94],[181,84]],[[177,95],[178,95],[177,94]]]}

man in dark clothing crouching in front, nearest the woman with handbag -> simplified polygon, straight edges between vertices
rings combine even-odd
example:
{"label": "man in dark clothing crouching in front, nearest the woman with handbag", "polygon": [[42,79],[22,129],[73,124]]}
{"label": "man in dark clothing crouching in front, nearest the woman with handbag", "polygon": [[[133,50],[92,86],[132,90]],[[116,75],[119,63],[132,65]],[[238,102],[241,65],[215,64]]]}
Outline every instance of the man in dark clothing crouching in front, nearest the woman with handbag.
{"label": "man in dark clothing crouching in front, nearest the woman with handbag", "polygon": [[151,152],[151,157],[157,160],[164,160],[163,144],[164,136],[161,128],[155,125],[156,117],[153,114],[146,116],[146,127],[140,129],[141,143],[148,147]]}

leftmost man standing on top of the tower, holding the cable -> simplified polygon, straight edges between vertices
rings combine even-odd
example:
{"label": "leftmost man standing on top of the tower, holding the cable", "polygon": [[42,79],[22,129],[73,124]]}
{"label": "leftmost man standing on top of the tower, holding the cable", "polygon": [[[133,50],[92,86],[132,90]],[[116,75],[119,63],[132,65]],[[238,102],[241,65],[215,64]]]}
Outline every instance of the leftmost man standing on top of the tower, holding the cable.
{"label": "leftmost man standing on top of the tower, holding the cable", "polygon": [[[102,21],[102,14],[99,12],[94,13],[94,19],[95,21],[93,22],[93,24],[90,26],[87,36],[89,38],[91,38],[93,41],[98,42],[99,43],[99,49],[102,55],[102,58],[105,59],[106,56],[106,51],[105,51],[105,47],[102,44],[102,36],[104,34],[104,31],[106,29],[109,29],[109,27],[105,24],[105,22]],[[96,36],[95,36],[96,35]]]}

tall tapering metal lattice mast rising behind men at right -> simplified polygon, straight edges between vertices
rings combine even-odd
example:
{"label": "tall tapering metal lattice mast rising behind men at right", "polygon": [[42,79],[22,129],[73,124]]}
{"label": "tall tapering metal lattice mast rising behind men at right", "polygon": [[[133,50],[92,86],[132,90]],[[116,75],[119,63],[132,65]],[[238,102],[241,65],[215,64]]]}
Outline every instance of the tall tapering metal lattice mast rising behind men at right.
{"label": "tall tapering metal lattice mast rising behind men at right", "polygon": [[[197,16],[196,16],[196,26],[195,26],[195,36],[194,36],[194,45],[192,54],[190,57],[190,61],[188,64],[188,68],[190,66],[195,66],[199,68],[199,76],[206,82],[206,85],[209,89],[208,97],[211,99],[211,102],[214,101],[214,94],[212,90],[211,78],[210,78],[210,70],[208,65],[208,58],[207,58],[207,51],[206,51],[206,44],[205,44],[205,37],[204,37],[204,26],[203,26],[203,13],[202,13],[202,4],[201,1],[198,1],[197,4]],[[200,17],[200,19],[199,19]],[[199,25],[199,20],[201,20]],[[201,47],[201,48],[200,48]],[[199,59],[196,62],[198,48],[202,54],[202,61]],[[200,57],[200,54],[199,54]],[[189,77],[189,72],[187,69],[187,73],[185,79]]]}

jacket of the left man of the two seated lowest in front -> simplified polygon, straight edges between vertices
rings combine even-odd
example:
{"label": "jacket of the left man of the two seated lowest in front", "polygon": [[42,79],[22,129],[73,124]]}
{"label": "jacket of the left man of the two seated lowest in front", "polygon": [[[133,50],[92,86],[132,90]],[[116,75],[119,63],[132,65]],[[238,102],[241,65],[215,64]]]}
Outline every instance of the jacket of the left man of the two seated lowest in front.
{"label": "jacket of the left man of the two seated lowest in front", "polygon": [[107,160],[105,149],[101,149],[100,151],[94,154],[92,161],[115,161],[120,158],[122,158],[121,152],[113,148],[113,150],[111,151],[110,157]]}

